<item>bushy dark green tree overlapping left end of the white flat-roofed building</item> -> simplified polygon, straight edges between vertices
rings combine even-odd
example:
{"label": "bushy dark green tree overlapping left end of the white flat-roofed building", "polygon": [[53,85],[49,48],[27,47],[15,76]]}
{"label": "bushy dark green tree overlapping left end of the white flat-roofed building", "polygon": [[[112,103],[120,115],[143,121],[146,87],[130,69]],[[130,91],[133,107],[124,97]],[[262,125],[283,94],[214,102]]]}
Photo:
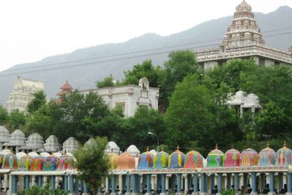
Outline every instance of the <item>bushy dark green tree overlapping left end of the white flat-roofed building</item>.
{"label": "bushy dark green tree overlapping left end of the white flat-roofed building", "polygon": [[60,104],[51,105],[50,116],[54,121],[53,132],[60,141],[73,136],[84,142],[90,137],[102,135],[97,123],[109,114],[107,104],[97,93],[72,91],[63,97]]}

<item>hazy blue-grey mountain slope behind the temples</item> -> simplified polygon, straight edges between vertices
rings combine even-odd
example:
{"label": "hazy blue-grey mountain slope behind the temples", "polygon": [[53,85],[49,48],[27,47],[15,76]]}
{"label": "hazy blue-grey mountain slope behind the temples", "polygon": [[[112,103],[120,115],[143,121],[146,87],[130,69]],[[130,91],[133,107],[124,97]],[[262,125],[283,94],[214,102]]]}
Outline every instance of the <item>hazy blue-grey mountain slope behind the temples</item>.
{"label": "hazy blue-grey mountain slope behind the temples", "polygon": [[[255,18],[266,37],[266,45],[282,50],[291,47],[292,8],[282,6],[272,13],[255,13]],[[129,70],[146,59],[152,59],[154,64],[162,64],[172,50],[214,47],[222,41],[231,20],[232,16],[222,17],[170,36],[147,33],[127,42],[77,49],[70,54],[15,65],[0,72],[0,104],[5,104],[8,100],[17,75],[44,81],[45,93],[49,98],[56,98],[56,93],[66,80],[74,88],[95,88],[95,81],[110,74],[116,79],[122,79],[124,70]],[[289,27],[291,28],[287,29]],[[285,30],[273,31],[274,29]]]}

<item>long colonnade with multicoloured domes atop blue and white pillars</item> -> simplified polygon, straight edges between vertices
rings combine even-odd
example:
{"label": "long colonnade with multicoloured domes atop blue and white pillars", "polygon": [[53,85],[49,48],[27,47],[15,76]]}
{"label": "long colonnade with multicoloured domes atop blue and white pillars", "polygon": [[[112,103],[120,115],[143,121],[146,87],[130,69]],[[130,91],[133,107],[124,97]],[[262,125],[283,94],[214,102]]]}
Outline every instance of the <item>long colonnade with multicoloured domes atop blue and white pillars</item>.
{"label": "long colonnade with multicoloured domes atop blue and white pillars", "polygon": [[[206,160],[195,150],[186,155],[179,148],[171,155],[163,150],[159,153],[147,150],[136,157],[134,151],[117,155],[120,151],[115,143],[108,147],[106,151],[112,152],[108,153],[111,177],[104,179],[100,193],[205,194],[231,188],[252,193],[258,190],[291,193],[292,151],[286,143],[277,153],[267,146],[259,154],[250,148],[242,153],[232,148],[224,154],[216,146]],[[70,153],[15,155],[2,150],[0,154],[4,154],[0,155],[0,183],[3,190],[10,189],[8,194],[46,182],[50,182],[52,189],[60,187],[70,194],[88,192],[86,183],[76,179],[78,170],[71,164],[74,157]]]}

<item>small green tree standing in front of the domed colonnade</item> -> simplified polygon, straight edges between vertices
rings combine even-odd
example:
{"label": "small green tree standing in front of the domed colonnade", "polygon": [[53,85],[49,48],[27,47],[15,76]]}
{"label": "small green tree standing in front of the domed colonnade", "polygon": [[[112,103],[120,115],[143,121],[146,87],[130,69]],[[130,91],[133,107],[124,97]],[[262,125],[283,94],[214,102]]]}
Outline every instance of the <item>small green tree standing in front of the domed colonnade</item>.
{"label": "small green tree standing in front of the domed colonnade", "polygon": [[75,165],[79,170],[78,178],[86,181],[97,194],[98,188],[102,185],[102,178],[108,176],[111,165],[108,156],[104,154],[108,143],[106,137],[97,137],[93,140],[84,148],[80,146],[74,155],[76,157]]}

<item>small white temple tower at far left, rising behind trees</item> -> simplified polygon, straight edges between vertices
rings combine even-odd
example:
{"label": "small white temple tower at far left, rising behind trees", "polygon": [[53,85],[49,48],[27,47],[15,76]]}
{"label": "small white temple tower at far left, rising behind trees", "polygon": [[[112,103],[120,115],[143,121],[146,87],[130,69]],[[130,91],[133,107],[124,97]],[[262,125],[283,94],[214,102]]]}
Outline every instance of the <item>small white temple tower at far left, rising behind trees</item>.
{"label": "small white temple tower at far left, rising behind trees", "polygon": [[13,92],[10,93],[5,105],[8,113],[15,109],[26,111],[27,104],[33,100],[33,93],[40,90],[44,90],[44,83],[42,81],[18,76],[13,87]]}

